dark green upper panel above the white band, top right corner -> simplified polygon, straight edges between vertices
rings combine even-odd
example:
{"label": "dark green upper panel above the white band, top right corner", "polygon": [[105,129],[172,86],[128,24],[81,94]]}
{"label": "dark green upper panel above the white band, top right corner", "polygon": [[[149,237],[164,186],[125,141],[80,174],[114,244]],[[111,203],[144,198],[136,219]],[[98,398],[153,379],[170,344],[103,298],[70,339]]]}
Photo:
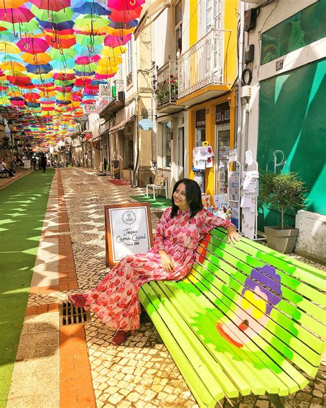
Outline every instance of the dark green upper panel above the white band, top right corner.
{"label": "dark green upper panel above the white band, top right corner", "polygon": [[326,1],[294,14],[261,34],[261,65],[326,36]]}

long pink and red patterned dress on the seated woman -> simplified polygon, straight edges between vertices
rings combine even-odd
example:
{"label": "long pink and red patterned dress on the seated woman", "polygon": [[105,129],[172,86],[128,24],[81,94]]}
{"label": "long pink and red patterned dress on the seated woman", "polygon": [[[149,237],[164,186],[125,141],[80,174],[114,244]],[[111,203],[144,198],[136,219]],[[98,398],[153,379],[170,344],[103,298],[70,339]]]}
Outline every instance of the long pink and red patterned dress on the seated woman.
{"label": "long pink and red patterned dress on the seated woman", "polygon": [[[214,227],[228,227],[230,221],[202,210],[189,218],[190,210],[178,211],[171,218],[172,208],[162,214],[154,236],[154,245],[144,254],[128,255],[113,267],[102,281],[83,294],[86,307],[110,328],[131,330],[140,327],[138,290],[149,281],[178,281],[190,272],[198,242]],[[158,251],[164,249],[175,265],[165,272]],[[71,296],[74,301],[74,295]]]}

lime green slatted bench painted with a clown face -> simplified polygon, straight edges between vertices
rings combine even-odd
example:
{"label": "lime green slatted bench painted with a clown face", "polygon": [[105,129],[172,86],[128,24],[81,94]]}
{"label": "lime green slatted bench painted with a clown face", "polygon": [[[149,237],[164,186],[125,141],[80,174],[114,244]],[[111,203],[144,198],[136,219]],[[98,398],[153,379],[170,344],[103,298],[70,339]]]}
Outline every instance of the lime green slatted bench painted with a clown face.
{"label": "lime green slatted bench painted with a clown face", "polygon": [[178,282],[152,282],[139,297],[200,407],[223,398],[303,389],[325,343],[325,276],[243,238],[207,234]]}

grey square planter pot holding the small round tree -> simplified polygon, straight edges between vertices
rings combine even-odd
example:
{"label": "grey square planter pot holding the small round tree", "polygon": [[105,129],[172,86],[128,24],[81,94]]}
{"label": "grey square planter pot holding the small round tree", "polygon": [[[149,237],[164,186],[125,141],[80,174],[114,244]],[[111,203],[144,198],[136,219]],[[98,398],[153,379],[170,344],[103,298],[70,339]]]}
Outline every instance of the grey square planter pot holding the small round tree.
{"label": "grey square planter pot holding the small round tree", "polygon": [[281,230],[281,227],[277,226],[265,227],[268,246],[282,254],[290,254],[293,252],[298,232],[298,228],[294,227],[287,227],[286,230]]}

